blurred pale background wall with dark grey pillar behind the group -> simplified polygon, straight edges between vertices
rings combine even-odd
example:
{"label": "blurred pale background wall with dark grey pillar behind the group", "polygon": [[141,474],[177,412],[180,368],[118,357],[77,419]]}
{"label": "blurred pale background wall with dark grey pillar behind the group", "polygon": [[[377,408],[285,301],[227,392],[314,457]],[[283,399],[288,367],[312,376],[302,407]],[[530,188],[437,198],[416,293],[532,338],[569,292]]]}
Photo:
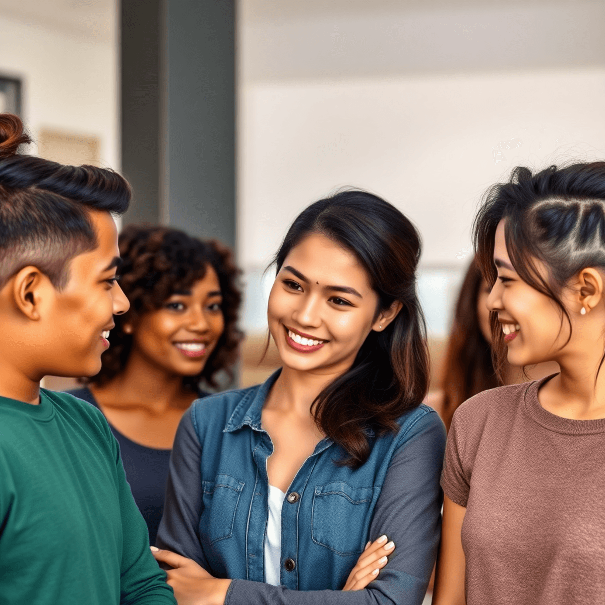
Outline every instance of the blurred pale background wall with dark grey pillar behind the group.
{"label": "blurred pale background wall with dark grey pillar behind the group", "polygon": [[605,156],[604,26],[601,0],[0,0],[0,110],[21,82],[41,155],[131,178],[125,221],[235,245],[246,384],[290,221],[384,196],[424,237],[438,362],[485,188]]}

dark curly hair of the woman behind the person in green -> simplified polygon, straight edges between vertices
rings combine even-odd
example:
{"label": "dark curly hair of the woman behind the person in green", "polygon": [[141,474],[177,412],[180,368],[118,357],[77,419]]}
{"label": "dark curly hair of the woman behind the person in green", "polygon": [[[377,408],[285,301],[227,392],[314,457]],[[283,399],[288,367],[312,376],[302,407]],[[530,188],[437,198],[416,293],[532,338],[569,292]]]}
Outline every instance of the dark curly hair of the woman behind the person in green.
{"label": "dark curly hair of the woman behind the person in green", "polygon": [[111,330],[111,347],[101,356],[100,372],[82,382],[101,386],[117,376],[126,367],[132,346],[132,335],[126,334],[123,326],[160,309],[174,292],[203,279],[208,265],[217,272],[225,327],[203,370],[195,376],[183,376],[183,387],[195,392],[205,381],[216,388],[220,370],[233,379],[232,366],[238,358],[243,332],[237,327],[241,292],[236,282],[240,270],[231,250],[217,241],[201,241],[178,229],[148,223],[125,227],[119,248],[123,260],[120,286],[130,301],[130,309],[114,316],[116,327]]}

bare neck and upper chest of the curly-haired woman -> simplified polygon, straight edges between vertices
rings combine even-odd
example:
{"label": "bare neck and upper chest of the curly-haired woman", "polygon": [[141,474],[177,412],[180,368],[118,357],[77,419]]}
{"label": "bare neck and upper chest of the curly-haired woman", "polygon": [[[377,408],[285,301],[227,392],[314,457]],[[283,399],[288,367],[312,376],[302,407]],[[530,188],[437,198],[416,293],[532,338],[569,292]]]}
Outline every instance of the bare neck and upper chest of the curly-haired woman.
{"label": "bare neck and upper chest of the curly-haired woman", "polygon": [[181,399],[188,398],[183,390],[182,376],[152,364],[134,347],[124,370],[108,384],[92,390],[105,394],[112,405],[136,404],[158,411],[175,407],[175,404],[178,406]]}

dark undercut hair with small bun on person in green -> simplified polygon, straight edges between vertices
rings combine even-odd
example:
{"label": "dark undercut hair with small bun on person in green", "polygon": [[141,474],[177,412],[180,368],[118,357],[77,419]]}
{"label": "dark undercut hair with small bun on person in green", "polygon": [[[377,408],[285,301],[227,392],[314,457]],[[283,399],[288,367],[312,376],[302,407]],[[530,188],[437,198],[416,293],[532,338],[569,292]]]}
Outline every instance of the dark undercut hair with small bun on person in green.
{"label": "dark undercut hair with small bun on person in green", "polygon": [[70,261],[99,245],[89,212],[122,215],[132,192],[110,169],[18,153],[29,143],[21,119],[0,114],[0,287],[32,265],[61,290]]}

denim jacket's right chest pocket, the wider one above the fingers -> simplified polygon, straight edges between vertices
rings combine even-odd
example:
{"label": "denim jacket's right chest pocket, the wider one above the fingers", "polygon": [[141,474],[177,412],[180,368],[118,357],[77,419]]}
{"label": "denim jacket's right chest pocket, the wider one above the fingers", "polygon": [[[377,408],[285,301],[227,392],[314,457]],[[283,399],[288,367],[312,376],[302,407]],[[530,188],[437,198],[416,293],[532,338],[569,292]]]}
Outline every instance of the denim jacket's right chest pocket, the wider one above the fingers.
{"label": "denim jacket's right chest pocket, the wider one above the fingers", "polygon": [[374,489],[344,482],[316,485],[311,514],[313,542],[344,557],[362,552]]}

